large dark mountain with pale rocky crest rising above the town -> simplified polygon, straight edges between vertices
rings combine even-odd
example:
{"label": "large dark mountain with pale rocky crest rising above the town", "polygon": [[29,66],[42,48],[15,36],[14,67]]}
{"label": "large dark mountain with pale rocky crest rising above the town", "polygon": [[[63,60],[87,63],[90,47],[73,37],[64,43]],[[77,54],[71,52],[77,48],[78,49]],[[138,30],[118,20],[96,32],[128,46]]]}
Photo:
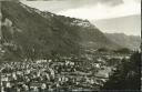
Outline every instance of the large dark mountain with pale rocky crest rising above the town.
{"label": "large dark mountain with pale rocky crest rising above the town", "polygon": [[21,2],[1,4],[1,37],[9,54],[39,59],[80,54],[91,48],[119,48],[88,20],[42,12]]}

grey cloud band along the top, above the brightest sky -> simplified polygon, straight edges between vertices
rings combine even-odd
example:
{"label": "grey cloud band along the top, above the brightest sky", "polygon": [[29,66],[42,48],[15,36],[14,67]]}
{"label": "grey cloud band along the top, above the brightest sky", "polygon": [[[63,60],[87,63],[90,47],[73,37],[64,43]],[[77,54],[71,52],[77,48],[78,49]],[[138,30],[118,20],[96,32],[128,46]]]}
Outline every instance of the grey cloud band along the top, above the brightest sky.
{"label": "grey cloud band along the top, above the brightest sky", "polygon": [[21,0],[23,3],[38,8],[42,11],[50,11],[57,13],[69,9],[77,9],[82,7],[95,6],[102,3],[105,6],[121,4],[122,0]]}

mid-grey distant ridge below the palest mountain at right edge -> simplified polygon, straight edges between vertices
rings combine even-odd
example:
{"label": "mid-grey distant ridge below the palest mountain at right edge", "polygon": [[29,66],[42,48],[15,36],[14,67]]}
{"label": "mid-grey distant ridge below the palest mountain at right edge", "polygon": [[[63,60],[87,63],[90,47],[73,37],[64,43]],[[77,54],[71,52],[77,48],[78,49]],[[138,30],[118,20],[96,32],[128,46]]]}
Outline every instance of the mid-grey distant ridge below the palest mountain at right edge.
{"label": "mid-grey distant ridge below the palest mountain at right edge", "polygon": [[116,42],[121,47],[129,48],[131,50],[139,50],[141,45],[141,37],[126,35],[124,33],[105,33],[106,38]]}

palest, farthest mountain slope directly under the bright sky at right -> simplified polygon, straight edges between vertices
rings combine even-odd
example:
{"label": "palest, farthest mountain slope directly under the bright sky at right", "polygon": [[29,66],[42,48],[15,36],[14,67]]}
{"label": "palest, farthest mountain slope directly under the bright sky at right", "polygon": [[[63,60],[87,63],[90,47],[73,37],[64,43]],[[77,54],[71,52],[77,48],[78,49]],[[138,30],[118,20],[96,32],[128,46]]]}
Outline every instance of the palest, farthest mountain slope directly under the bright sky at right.
{"label": "palest, farthest mountain slope directly under the bright sky at right", "polygon": [[125,33],[129,35],[141,34],[141,16],[128,16],[112,19],[91,21],[100,30],[108,33]]}

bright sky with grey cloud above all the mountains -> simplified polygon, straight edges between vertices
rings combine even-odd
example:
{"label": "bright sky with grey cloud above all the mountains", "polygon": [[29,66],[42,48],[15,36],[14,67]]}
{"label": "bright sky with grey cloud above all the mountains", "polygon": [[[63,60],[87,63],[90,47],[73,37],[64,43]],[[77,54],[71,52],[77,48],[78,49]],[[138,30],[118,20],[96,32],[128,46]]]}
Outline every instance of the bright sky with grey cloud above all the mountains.
{"label": "bright sky with grey cloud above all the mountains", "polygon": [[90,21],[141,14],[141,0],[22,0],[22,2],[41,11]]}

